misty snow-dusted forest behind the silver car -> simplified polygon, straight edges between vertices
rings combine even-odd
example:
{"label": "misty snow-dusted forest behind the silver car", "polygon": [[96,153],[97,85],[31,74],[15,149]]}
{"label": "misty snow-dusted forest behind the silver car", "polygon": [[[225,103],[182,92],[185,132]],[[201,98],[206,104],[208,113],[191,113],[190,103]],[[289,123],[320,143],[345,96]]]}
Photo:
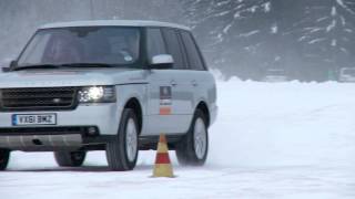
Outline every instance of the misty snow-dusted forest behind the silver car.
{"label": "misty snow-dusted forest behind the silver car", "polygon": [[261,80],[335,80],[355,67],[354,0],[0,0],[0,60],[58,21],[142,19],[189,25],[212,69]]}

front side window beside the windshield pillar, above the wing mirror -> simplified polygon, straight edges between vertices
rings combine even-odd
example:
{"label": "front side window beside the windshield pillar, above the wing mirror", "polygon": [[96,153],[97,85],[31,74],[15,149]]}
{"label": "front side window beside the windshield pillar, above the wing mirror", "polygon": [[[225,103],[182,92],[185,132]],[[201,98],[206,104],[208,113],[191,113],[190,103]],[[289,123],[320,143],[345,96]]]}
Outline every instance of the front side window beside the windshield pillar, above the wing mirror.
{"label": "front side window beside the windshield pillar, above the wing mirror", "polygon": [[149,59],[155,55],[166,54],[164,39],[160,29],[146,30],[146,51]]}

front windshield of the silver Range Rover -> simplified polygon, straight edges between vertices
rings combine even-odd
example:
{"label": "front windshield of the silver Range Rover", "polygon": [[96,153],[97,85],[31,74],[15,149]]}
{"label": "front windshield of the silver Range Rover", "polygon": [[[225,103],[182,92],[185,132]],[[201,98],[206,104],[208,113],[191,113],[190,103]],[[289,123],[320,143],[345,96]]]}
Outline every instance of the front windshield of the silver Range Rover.
{"label": "front windshield of the silver Range Rover", "polygon": [[132,65],[140,57],[140,29],[80,27],[44,29],[36,33],[19,57],[31,65]]}

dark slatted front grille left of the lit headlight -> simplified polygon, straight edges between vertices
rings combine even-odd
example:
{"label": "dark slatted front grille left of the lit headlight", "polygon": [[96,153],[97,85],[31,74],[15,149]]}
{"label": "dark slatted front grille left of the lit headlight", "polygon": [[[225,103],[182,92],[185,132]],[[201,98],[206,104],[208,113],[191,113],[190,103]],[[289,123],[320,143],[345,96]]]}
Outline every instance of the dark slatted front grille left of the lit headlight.
{"label": "dark slatted front grille left of the lit headlight", "polygon": [[74,109],[75,87],[29,87],[0,90],[1,111]]}

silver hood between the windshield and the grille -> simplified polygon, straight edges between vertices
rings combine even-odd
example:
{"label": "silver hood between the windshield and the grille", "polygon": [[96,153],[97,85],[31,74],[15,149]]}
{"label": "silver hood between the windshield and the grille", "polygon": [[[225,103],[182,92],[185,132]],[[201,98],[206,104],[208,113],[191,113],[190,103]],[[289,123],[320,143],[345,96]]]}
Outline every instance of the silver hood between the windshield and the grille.
{"label": "silver hood between the windshield and the grille", "polygon": [[144,71],[132,69],[24,70],[0,73],[0,88],[118,85],[144,82]]}

